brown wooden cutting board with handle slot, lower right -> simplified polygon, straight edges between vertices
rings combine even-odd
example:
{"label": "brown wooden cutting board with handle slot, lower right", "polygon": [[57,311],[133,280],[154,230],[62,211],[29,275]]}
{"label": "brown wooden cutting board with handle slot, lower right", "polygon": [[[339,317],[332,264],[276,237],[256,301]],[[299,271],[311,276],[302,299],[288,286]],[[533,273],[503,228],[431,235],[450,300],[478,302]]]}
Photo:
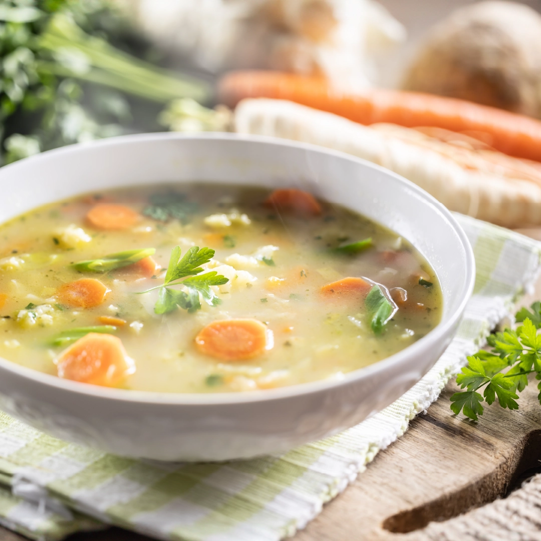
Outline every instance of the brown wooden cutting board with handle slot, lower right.
{"label": "brown wooden cutting board with handle slot, lower right", "polygon": [[[525,233],[541,240],[541,230]],[[536,292],[521,304],[529,305],[534,299],[541,299],[541,280]],[[454,382],[448,384],[428,412],[411,421],[404,436],[379,452],[367,470],[294,541],[415,539],[414,532],[420,534],[431,520],[446,520],[492,502],[519,485],[529,472],[541,471],[536,382],[521,394],[518,411],[492,404],[485,407],[478,423],[452,414],[449,397],[456,390]],[[407,532],[411,533],[401,535]],[[0,527],[0,541],[17,539],[23,538]],[[111,528],[76,534],[69,541],[144,539]]]}

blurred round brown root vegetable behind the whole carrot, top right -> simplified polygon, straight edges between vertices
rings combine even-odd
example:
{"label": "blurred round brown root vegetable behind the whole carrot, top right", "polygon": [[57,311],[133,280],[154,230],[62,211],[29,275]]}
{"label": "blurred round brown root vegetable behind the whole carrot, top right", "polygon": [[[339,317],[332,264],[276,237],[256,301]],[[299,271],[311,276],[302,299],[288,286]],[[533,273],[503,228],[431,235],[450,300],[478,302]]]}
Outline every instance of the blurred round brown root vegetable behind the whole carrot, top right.
{"label": "blurred round brown root vegetable behind the whole carrot, top right", "polygon": [[541,15],[516,2],[480,2],[430,31],[403,88],[541,118]]}

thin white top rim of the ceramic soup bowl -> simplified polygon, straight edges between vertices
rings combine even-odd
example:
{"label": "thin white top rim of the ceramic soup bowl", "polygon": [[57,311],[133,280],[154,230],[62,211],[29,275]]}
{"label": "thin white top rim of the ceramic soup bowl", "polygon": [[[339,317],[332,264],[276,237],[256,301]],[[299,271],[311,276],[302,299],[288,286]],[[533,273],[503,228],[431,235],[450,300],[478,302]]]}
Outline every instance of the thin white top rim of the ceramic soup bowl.
{"label": "thin white top rim of the ceramic soup bowl", "polygon": [[155,142],[155,141],[171,141],[171,140],[222,140],[222,141],[238,141],[249,143],[261,143],[271,144],[276,147],[293,147],[299,150],[316,151],[329,156],[338,157],[340,159],[346,159],[351,162],[362,164],[363,166],[376,169],[394,177],[394,180],[406,183],[407,186],[415,192],[415,195],[421,200],[435,208],[448,225],[454,230],[456,235],[461,241],[461,245],[465,252],[465,274],[466,280],[464,282],[462,291],[462,300],[459,306],[448,316],[447,321],[439,323],[432,331],[428,332],[423,338],[419,339],[414,344],[401,349],[399,352],[390,355],[372,365],[358,368],[351,372],[344,374],[340,379],[325,379],[311,381],[301,384],[289,385],[285,387],[279,387],[275,389],[267,390],[254,390],[243,392],[221,392],[221,393],[173,393],[173,392],[157,392],[157,391],[135,391],[127,389],[115,389],[108,387],[101,387],[98,385],[91,385],[81,383],[78,381],[71,381],[58,378],[57,376],[45,374],[32,368],[27,368],[16,364],[0,357],[0,372],[7,371],[15,376],[22,377],[31,380],[34,384],[42,384],[46,387],[50,387],[51,390],[59,390],[74,394],[83,394],[91,398],[102,398],[112,401],[120,401],[123,403],[141,403],[141,404],[154,404],[154,405],[176,405],[176,406],[215,406],[215,405],[233,405],[243,403],[261,403],[270,402],[274,400],[282,400],[285,398],[301,397],[311,394],[318,394],[320,392],[331,391],[334,388],[342,387],[348,384],[353,384],[355,381],[364,379],[374,373],[385,371],[388,368],[392,368],[395,365],[399,365],[407,358],[415,357],[424,350],[430,349],[431,346],[447,335],[448,331],[457,324],[464,312],[464,308],[470,299],[473,292],[476,276],[475,259],[473,255],[473,249],[470,245],[464,230],[461,228],[457,220],[451,214],[442,203],[440,203],[432,195],[428,194],[414,184],[412,181],[405,177],[394,173],[393,171],[379,166],[368,160],[364,160],[352,154],[345,152],[328,149],[326,147],[320,147],[312,143],[304,143],[298,141],[291,141],[280,137],[261,136],[261,135],[244,135],[244,134],[232,134],[232,133],[171,133],[171,132],[157,132],[157,133],[143,133],[143,134],[130,134],[117,137],[110,137],[107,139],[89,141],[84,143],[71,144],[65,147],[52,149],[43,153],[30,156],[21,161],[8,164],[0,169],[0,182],[4,176],[4,171],[9,172],[18,167],[24,167],[28,163],[39,163],[39,161],[48,160],[51,157],[62,156],[64,154],[77,153],[87,148],[100,148],[111,147],[117,144],[126,144],[130,142]]}

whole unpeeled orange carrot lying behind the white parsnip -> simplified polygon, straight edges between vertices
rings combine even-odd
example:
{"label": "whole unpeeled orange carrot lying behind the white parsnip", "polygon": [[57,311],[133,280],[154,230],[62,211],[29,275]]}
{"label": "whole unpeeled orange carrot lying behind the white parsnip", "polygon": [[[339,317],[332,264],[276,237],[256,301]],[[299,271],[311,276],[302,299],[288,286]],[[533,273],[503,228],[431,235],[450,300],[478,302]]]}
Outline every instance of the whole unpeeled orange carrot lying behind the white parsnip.
{"label": "whole unpeeled orange carrot lying behind the white parsnip", "polygon": [[234,71],[219,84],[222,103],[248,97],[289,100],[361,124],[390,122],[469,133],[505,154],[541,161],[541,121],[476,103],[403,90],[372,89],[346,94],[327,80],[278,71]]}

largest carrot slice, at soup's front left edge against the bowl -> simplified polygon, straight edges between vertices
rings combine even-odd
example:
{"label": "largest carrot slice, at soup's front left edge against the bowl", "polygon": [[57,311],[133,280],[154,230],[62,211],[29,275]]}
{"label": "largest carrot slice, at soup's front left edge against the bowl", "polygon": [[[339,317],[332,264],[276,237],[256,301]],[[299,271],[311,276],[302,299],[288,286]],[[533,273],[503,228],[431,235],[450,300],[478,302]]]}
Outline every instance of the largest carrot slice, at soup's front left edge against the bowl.
{"label": "largest carrot slice, at soup's front left edge against the bowl", "polygon": [[58,377],[114,387],[135,372],[122,341],[111,334],[88,333],[60,354]]}

